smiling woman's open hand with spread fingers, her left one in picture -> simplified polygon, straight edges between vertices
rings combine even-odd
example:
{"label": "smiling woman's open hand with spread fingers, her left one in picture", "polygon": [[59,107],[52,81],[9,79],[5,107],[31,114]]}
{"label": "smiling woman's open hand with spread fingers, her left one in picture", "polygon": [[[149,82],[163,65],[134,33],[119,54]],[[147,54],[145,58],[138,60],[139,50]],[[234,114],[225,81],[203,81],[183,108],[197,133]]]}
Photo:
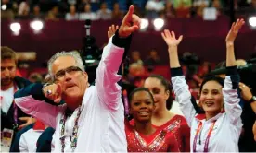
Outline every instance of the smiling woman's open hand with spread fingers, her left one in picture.
{"label": "smiling woman's open hand with spread fingers, her left one in picture", "polygon": [[170,33],[168,29],[164,29],[164,32],[161,32],[161,37],[166,42],[168,47],[178,46],[183,38],[183,36],[181,35],[177,40],[175,38],[175,33],[173,31]]}

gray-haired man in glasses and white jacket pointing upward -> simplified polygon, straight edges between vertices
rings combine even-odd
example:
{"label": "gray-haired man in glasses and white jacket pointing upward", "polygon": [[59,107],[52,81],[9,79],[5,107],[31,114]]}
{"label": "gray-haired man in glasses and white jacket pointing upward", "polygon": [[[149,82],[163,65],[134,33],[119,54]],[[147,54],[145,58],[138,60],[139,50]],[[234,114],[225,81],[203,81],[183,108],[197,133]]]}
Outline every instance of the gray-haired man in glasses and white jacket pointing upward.
{"label": "gray-haired man in glasses and white jacket pointing upward", "polygon": [[[119,67],[131,34],[139,29],[134,6],[109,39],[96,70],[96,86],[89,86],[76,52],[55,54],[48,62],[53,84],[33,84],[15,95],[19,107],[56,129],[55,152],[127,152]],[[54,106],[49,102],[66,103]]]}

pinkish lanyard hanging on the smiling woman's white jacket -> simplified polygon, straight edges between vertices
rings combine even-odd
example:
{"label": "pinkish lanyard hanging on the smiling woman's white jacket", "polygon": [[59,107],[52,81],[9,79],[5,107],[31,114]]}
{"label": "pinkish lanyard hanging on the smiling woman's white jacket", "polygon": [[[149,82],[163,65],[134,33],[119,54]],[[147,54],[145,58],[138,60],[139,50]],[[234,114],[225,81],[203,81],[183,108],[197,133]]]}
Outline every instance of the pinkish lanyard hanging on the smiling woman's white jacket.
{"label": "pinkish lanyard hanging on the smiling woman's white jacket", "polygon": [[[213,130],[215,123],[216,123],[216,121],[213,121],[213,123],[211,124],[210,130],[209,130],[208,135],[205,140],[203,152],[208,152],[209,140],[210,140],[211,132]],[[198,134],[201,131],[201,129],[202,129],[202,122],[200,122],[200,124],[198,124],[197,133],[195,135],[194,142],[193,142],[193,152],[197,152],[196,147],[197,147],[197,141],[198,141]]]}

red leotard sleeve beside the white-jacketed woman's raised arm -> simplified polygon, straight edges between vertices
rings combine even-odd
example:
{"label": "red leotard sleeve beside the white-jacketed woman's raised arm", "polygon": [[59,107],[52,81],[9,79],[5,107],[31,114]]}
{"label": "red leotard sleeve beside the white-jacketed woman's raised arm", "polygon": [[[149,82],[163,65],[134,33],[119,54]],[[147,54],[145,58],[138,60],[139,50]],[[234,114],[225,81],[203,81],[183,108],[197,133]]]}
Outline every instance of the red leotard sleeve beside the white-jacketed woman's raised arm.
{"label": "red leotard sleeve beside the white-jacketed woman's raised arm", "polygon": [[183,152],[190,152],[190,128],[186,124],[186,119],[182,117],[181,119],[181,136],[182,136],[182,146]]}

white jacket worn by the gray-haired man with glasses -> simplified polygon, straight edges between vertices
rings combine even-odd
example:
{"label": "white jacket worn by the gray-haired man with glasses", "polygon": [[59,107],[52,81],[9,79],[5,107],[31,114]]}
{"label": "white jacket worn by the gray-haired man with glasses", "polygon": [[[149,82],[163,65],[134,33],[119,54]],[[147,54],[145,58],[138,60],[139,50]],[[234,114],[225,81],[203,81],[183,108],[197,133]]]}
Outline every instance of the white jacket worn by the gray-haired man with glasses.
{"label": "white jacket worn by the gray-haired man with glasses", "polygon": [[[123,53],[124,48],[114,45],[112,39],[103,50],[96,70],[96,86],[87,88],[83,96],[83,110],[78,120],[78,139],[74,152],[127,152],[122,88],[117,84],[121,79],[117,72]],[[53,137],[54,152],[61,152],[60,120],[67,105],[54,106],[43,100],[34,100],[32,95],[26,93],[28,89],[19,90],[16,94],[16,104],[24,112],[56,129]],[[65,152],[72,151],[70,136],[78,110],[77,108],[66,121]]]}

